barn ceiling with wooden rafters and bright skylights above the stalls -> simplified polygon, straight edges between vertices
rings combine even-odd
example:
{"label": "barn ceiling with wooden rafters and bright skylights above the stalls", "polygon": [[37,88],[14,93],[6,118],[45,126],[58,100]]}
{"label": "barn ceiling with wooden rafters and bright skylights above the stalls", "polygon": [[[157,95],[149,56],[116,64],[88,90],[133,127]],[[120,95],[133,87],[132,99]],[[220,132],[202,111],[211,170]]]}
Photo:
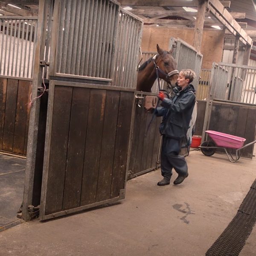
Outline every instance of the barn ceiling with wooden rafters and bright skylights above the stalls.
{"label": "barn ceiling with wooden rafters and bright skylights above the stalls", "polygon": [[[147,26],[171,26],[194,28],[197,0],[118,0],[122,8],[143,18]],[[255,0],[221,0],[222,5],[239,23],[242,29],[256,41]],[[1,0],[0,15],[38,16],[39,0]],[[204,28],[223,29],[209,9],[205,15]],[[229,34],[229,32],[227,32]]]}

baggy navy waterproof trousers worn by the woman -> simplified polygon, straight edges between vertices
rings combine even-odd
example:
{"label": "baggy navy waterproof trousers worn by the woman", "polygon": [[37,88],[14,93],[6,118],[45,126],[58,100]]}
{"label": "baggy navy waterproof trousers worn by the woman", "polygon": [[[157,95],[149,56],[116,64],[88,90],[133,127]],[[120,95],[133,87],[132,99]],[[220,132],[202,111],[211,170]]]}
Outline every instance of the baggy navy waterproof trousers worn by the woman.
{"label": "baggy navy waterproof trousers worn by the woman", "polygon": [[172,168],[177,174],[186,175],[188,173],[188,166],[184,157],[180,156],[179,140],[175,140],[163,135],[163,143],[161,150],[161,173],[163,177],[171,179]]}

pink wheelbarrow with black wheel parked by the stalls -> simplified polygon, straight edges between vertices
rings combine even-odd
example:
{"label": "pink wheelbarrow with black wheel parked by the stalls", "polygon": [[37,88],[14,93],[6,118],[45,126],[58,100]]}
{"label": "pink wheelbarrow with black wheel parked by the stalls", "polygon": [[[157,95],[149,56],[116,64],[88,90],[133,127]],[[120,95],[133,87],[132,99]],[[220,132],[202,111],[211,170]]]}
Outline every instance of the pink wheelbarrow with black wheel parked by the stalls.
{"label": "pink wheelbarrow with black wheel parked by the stalls", "polygon": [[[228,159],[232,163],[236,163],[237,160],[240,158],[240,150],[243,148],[246,148],[254,143],[256,143],[256,140],[254,140],[251,143],[248,143],[244,146],[244,142],[246,139],[242,137],[237,137],[230,134],[225,134],[218,131],[205,131],[208,136],[210,137],[210,140],[207,140],[199,146],[202,153],[206,156],[212,156],[217,148],[222,148],[227,154]],[[230,149],[236,149],[236,155],[233,156],[230,152]]]}

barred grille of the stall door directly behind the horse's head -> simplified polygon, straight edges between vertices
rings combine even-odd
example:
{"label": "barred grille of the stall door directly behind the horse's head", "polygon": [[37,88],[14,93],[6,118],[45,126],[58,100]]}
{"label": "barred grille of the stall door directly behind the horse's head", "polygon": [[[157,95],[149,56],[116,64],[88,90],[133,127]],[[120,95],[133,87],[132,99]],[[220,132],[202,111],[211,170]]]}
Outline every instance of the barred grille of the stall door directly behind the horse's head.
{"label": "barred grille of the stall door directly behind the horse's head", "polygon": [[173,46],[175,48],[172,55],[177,61],[177,69],[179,71],[182,69],[192,69],[195,71],[196,78],[192,84],[197,90],[203,55],[179,38],[170,39],[169,48],[172,48]]}

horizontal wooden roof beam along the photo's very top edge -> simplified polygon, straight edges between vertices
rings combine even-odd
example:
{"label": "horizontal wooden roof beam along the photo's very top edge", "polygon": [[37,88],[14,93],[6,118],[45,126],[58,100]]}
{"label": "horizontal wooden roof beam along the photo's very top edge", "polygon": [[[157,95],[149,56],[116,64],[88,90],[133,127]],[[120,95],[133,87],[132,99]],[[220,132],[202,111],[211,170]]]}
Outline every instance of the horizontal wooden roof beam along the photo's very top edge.
{"label": "horizontal wooden roof beam along the photo's very top edge", "polygon": [[[173,7],[197,7],[198,0],[191,2],[186,0],[119,0],[124,6],[173,6]],[[221,1],[224,7],[230,7],[230,1]]]}

